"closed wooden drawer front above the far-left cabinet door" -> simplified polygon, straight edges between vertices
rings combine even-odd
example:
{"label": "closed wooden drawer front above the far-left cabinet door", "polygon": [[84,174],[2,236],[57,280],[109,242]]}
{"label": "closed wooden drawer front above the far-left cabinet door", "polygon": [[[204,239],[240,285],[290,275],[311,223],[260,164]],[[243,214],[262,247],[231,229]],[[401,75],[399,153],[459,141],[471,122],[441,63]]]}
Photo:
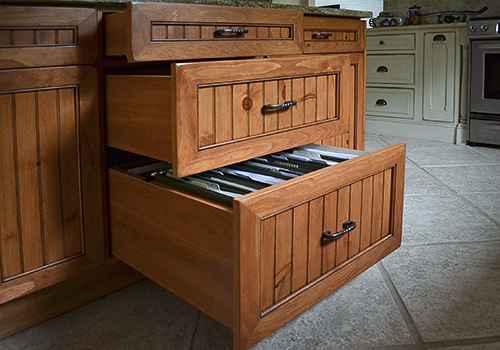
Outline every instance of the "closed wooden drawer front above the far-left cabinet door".
{"label": "closed wooden drawer front above the far-left cabinet door", "polygon": [[94,63],[91,9],[0,6],[0,69]]}

